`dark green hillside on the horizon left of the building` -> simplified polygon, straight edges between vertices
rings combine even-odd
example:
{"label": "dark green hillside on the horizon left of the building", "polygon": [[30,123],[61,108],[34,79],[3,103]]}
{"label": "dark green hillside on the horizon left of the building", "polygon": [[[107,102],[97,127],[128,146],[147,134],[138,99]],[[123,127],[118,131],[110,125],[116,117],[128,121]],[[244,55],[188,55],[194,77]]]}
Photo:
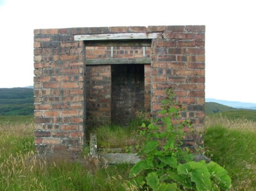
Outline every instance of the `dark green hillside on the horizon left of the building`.
{"label": "dark green hillside on the horizon left of the building", "polygon": [[0,88],[0,115],[33,115],[31,88]]}

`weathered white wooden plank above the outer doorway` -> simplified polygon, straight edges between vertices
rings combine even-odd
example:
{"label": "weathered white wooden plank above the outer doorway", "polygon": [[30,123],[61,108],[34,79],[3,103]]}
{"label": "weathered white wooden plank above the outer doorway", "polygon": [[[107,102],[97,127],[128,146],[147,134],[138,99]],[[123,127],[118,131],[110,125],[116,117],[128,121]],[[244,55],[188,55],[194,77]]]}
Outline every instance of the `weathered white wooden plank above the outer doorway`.
{"label": "weathered white wooden plank above the outer doorway", "polygon": [[124,40],[124,39],[153,39],[162,38],[162,33],[115,33],[74,35],[75,40]]}

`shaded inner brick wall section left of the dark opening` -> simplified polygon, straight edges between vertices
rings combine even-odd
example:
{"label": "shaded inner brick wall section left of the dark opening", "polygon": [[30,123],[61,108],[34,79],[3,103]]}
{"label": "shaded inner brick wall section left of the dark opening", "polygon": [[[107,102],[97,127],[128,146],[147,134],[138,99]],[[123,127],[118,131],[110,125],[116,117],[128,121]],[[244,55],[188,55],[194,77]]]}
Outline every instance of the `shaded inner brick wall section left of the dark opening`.
{"label": "shaded inner brick wall section left of the dark opening", "polygon": [[111,65],[86,68],[87,127],[111,122]]}

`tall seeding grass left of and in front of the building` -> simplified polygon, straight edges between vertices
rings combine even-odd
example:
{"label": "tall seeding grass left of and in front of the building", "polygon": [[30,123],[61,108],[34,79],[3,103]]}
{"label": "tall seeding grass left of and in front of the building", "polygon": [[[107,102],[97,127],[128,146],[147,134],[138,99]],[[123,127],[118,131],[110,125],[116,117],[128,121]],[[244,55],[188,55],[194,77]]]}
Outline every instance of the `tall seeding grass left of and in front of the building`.
{"label": "tall seeding grass left of and in front of the building", "polygon": [[0,190],[124,190],[129,165],[48,162],[33,145],[33,124],[0,125]]}

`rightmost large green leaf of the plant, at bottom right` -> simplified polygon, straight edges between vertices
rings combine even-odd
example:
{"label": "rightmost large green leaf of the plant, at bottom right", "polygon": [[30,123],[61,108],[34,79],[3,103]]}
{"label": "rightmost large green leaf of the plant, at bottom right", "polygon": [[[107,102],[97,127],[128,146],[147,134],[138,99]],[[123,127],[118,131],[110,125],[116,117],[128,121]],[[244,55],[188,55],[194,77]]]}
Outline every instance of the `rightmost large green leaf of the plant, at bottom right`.
{"label": "rightmost large green leaf of the plant, at bottom right", "polygon": [[227,175],[227,171],[216,162],[206,163],[209,170],[210,178],[213,179],[222,189],[229,189],[231,186],[231,178]]}

